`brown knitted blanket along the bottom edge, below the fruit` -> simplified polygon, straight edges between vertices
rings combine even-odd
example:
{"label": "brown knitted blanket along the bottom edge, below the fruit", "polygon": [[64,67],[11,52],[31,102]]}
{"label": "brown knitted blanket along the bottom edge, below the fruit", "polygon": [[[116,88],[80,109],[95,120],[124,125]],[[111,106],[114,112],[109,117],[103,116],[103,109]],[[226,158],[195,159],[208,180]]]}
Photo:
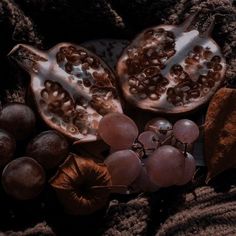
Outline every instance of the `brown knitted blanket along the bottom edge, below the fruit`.
{"label": "brown knitted blanket along the bottom edge, below the fruit", "polygon": [[[172,198],[164,197],[172,194]],[[74,229],[67,228],[67,235]],[[78,235],[235,235],[236,187],[227,193],[209,186],[197,187],[193,192],[179,193],[173,189],[152,196],[139,196],[128,202],[113,200],[103,223],[94,230]],[[1,236],[60,235],[46,222],[25,231],[7,231]]]}

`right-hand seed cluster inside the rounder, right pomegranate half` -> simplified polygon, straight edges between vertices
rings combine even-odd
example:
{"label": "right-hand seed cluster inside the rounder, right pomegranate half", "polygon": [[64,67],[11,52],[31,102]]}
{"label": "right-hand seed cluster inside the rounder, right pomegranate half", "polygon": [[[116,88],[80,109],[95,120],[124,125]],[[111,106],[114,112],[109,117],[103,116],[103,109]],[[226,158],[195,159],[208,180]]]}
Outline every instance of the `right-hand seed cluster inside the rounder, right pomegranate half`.
{"label": "right-hand seed cluster inside the rounder, right pomegranate half", "polygon": [[[207,94],[221,78],[223,66],[220,62],[221,57],[213,56],[209,48],[196,45],[188,53],[184,67],[175,64],[170,68],[170,77],[177,84],[167,89],[168,102],[182,106]],[[202,75],[201,69],[207,74]]]}

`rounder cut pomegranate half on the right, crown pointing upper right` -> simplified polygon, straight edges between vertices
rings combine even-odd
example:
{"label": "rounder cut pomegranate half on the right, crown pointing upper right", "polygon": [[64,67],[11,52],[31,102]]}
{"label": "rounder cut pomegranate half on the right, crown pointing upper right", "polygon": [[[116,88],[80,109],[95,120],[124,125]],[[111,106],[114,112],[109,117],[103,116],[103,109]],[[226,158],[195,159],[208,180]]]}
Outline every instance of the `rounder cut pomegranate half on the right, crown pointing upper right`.
{"label": "rounder cut pomegranate half on the right, crown pointing upper right", "polygon": [[125,98],[161,113],[192,111],[209,101],[226,70],[219,46],[207,32],[190,29],[196,14],[182,25],[143,31],[124,50],[117,73]]}

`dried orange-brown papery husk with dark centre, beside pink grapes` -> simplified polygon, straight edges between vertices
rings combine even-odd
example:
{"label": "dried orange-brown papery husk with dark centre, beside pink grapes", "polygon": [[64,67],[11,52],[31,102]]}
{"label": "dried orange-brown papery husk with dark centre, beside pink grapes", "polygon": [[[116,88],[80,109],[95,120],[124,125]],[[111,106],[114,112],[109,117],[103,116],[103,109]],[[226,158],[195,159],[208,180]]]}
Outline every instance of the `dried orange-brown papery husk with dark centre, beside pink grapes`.
{"label": "dried orange-brown papery husk with dark centre, beside pink grapes", "polygon": [[107,204],[111,177],[104,164],[71,154],[50,183],[67,213],[88,215]]}

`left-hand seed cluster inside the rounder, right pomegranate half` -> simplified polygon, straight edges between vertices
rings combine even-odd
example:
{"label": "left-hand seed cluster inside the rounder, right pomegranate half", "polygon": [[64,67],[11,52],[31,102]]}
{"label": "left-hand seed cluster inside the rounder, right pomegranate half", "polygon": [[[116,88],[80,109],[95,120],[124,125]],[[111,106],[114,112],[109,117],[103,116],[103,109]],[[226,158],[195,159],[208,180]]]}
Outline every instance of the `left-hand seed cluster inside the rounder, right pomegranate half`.
{"label": "left-hand seed cluster inside the rounder, right pomegranate half", "polygon": [[163,28],[147,30],[139,47],[127,50],[125,61],[129,91],[140,99],[157,100],[169,84],[162,76],[166,61],[175,54],[175,39]]}

